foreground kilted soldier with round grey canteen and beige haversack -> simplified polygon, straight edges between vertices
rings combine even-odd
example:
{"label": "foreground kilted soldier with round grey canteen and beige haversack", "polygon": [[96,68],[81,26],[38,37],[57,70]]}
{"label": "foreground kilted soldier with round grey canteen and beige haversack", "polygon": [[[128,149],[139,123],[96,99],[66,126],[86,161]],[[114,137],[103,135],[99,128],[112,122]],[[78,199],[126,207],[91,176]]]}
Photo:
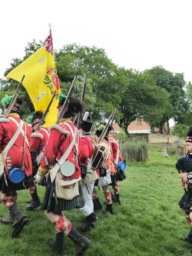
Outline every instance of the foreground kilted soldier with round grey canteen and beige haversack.
{"label": "foreground kilted soldier with round grey canteen and beige haversack", "polygon": [[[60,94],[57,106],[58,115],[65,99],[66,96]],[[83,102],[78,98],[70,97],[68,109],[60,123],[49,127],[48,144],[36,175],[38,183],[41,183],[45,175],[47,177],[46,192],[41,209],[45,211],[45,215],[56,229],[56,240],[48,239],[48,244],[61,255],[64,255],[64,234],[75,244],[76,256],[84,255],[90,244],[90,240],[80,235],[64,215],[65,210],[84,207],[78,164],[80,132],[71,121],[71,117],[82,109]],[[49,166],[52,164],[54,164],[54,168],[48,172]],[[64,167],[66,165],[67,168]],[[54,173],[56,178],[52,176]]]}

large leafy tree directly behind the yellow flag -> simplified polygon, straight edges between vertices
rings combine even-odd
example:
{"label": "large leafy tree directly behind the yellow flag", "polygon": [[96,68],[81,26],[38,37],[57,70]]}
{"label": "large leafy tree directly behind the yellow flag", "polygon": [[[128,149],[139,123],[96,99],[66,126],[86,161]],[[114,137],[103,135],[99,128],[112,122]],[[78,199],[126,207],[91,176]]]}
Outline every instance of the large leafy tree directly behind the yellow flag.
{"label": "large leafy tree directly behind the yellow flag", "polygon": [[[42,42],[36,44],[33,41],[25,48],[25,56],[22,59],[13,59],[11,67],[7,68],[4,76],[33,52],[39,49]],[[86,47],[76,44],[65,45],[59,51],[55,51],[57,74],[60,80],[61,91],[67,94],[68,89],[77,76],[78,81],[73,96],[81,96],[84,74],[88,74],[87,88],[85,91],[85,111],[89,111],[92,119],[100,122],[107,118],[112,109],[116,108],[121,101],[121,91],[124,87],[119,68],[108,58],[102,48]],[[9,95],[16,90],[18,82],[14,80],[0,80],[1,90]],[[24,96],[26,104],[24,111],[33,112],[33,105],[28,98],[27,92],[22,87],[20,94]]]}

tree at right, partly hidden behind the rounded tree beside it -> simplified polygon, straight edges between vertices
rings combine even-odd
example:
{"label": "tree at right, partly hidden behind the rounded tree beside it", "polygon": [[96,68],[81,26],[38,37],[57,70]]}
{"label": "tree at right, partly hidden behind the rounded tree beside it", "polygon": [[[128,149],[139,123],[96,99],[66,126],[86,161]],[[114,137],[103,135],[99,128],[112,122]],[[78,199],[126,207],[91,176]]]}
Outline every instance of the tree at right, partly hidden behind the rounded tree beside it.
{"label": "tree at right, partly hidden behind the rounded tree beside it", "polygon": [[168,134],[170,133],[169,119],[174,118],[178,120],[184,108],[186,108],[185,98],[184,98],[184,74],[183,73],[172,73],[167,71],[161,66],[156,66],[145,72],[152,75],[153,79],[156,81],[156,86],[159,88],[164,88],[169,94],[170,104],[172,108],[166,109],[160,118],[160,133],[164,133],[164,123],[168,124]]}

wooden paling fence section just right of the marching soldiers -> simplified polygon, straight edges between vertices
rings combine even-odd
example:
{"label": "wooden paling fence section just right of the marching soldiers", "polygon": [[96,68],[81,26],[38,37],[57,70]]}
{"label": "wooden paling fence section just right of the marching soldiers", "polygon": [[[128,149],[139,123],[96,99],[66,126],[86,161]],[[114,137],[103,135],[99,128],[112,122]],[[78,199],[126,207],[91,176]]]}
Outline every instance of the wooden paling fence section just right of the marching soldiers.
{"label": "wooden paling fence section just right of the marching soldiers", "polygon": [[148,161],[147,148],[121,148],[122,157],[128,161],[146,162]]}

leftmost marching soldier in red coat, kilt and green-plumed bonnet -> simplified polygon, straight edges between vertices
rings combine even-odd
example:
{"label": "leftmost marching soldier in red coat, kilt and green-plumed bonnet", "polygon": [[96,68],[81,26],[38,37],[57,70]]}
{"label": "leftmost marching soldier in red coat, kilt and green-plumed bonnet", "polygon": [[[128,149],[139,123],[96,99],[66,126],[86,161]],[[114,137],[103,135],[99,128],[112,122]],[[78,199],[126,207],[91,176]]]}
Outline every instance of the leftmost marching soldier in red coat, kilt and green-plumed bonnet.
{"label": "leftmost marching soldier in red coat, kilt and green-plumed bonnet", "polygon": [[[11,100],[12,96],[5,96],[1,101],[5,113]],[[12,224],[14,228],[12,237],[18,237],[24,225],[28,223],[28,218],[17,206],[16,191],[30,188],[34,184],[29,148],[31,129],[21,120],[20,116],[23,103],[24,100],[18,97],[8,118],[0,118],[0,147],[3,151],[3,157],[1,154],[0,159],[0,191],[1,200],[9,210],[8,217],[0,221],[2,224]],[[24,171],[24,180],[19,183],[12,182],[15,180],[11,181],[9,174],[11,170],[14,171],[13,168],[20,168]]]}

